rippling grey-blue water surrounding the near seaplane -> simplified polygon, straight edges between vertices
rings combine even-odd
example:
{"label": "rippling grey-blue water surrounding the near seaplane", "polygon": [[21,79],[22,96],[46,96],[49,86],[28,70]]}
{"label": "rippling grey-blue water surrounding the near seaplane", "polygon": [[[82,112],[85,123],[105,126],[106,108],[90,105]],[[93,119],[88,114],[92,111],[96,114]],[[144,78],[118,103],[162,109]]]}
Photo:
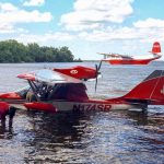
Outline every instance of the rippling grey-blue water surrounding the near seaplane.
{"label": "rippling grey-blue water surrounding the near seaplane", "polygon": [[[0,92],[26,85],[16,74],[43,68],[82,63],[1,63]],[[103,78],[87,82],[91,97],[107,98],[126,94],[164,62],[149,66],[103,63]],[[0,126],[0,163],[163,164],[164,106],[149,106],[148,114],[96,112],[90,114],[43,114],[17,110],[13,128]]]}

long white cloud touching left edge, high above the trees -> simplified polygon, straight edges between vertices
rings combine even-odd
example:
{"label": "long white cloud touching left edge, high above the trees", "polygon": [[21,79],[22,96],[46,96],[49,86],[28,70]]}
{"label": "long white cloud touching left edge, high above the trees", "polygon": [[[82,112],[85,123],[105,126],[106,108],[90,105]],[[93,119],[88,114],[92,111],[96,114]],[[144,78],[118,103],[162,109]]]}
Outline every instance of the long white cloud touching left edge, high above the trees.
{"label": "long white cloud touching left edge, high above the trees", "polygon": [[11,3],[0,3],[0,22],[2,24],[49,22],[51,19],[52,16],[49,12],[25,11]]}

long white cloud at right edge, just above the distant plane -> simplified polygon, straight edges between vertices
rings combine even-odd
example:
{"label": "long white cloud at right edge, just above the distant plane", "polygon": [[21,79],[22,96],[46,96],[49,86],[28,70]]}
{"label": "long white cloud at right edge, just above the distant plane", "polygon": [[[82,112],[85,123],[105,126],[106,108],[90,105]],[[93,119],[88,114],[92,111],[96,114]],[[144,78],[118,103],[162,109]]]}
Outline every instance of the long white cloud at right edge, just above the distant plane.
{"label": "long white cloud at right edge, just above the distant plane", "polygon": [[163,40],[164,28],[136,28],[136,27],[106,27],[104,30],[94,30],[93,32],[79,33],[81,39],[90,42],[109,42],[109,40]]}

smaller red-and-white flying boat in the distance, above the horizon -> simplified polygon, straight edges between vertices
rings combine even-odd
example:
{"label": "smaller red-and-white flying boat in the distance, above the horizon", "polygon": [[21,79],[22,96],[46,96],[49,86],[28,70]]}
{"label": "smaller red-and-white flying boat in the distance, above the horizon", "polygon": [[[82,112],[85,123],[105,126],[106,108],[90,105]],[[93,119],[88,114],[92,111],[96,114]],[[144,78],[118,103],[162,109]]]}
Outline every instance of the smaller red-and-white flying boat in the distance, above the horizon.
{"label": "smaller red-and-white flying boat in the distance, above the horizon", "polygon": [[162,57],[160,43],[155,42],[150,51],[153,56],[126,56],[119,54],[102,54],[104,55],[103,61],[109,62],[110,65],[148,65],[153,60],[160,59]]}

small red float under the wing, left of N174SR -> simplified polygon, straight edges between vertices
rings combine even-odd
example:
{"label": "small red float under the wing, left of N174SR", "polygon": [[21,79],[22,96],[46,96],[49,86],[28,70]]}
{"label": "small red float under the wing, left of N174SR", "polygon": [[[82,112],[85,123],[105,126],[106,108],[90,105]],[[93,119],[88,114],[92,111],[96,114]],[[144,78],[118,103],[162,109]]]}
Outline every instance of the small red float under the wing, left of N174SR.
{"label": "small red float under the wing, left of N174SR", "polygon": [[42,103],[42,102],[24,103],[24,106],[28,109],[43,110],[48,113],[57,112],[56,107],[54,107],[54,105],[49,103]]}

